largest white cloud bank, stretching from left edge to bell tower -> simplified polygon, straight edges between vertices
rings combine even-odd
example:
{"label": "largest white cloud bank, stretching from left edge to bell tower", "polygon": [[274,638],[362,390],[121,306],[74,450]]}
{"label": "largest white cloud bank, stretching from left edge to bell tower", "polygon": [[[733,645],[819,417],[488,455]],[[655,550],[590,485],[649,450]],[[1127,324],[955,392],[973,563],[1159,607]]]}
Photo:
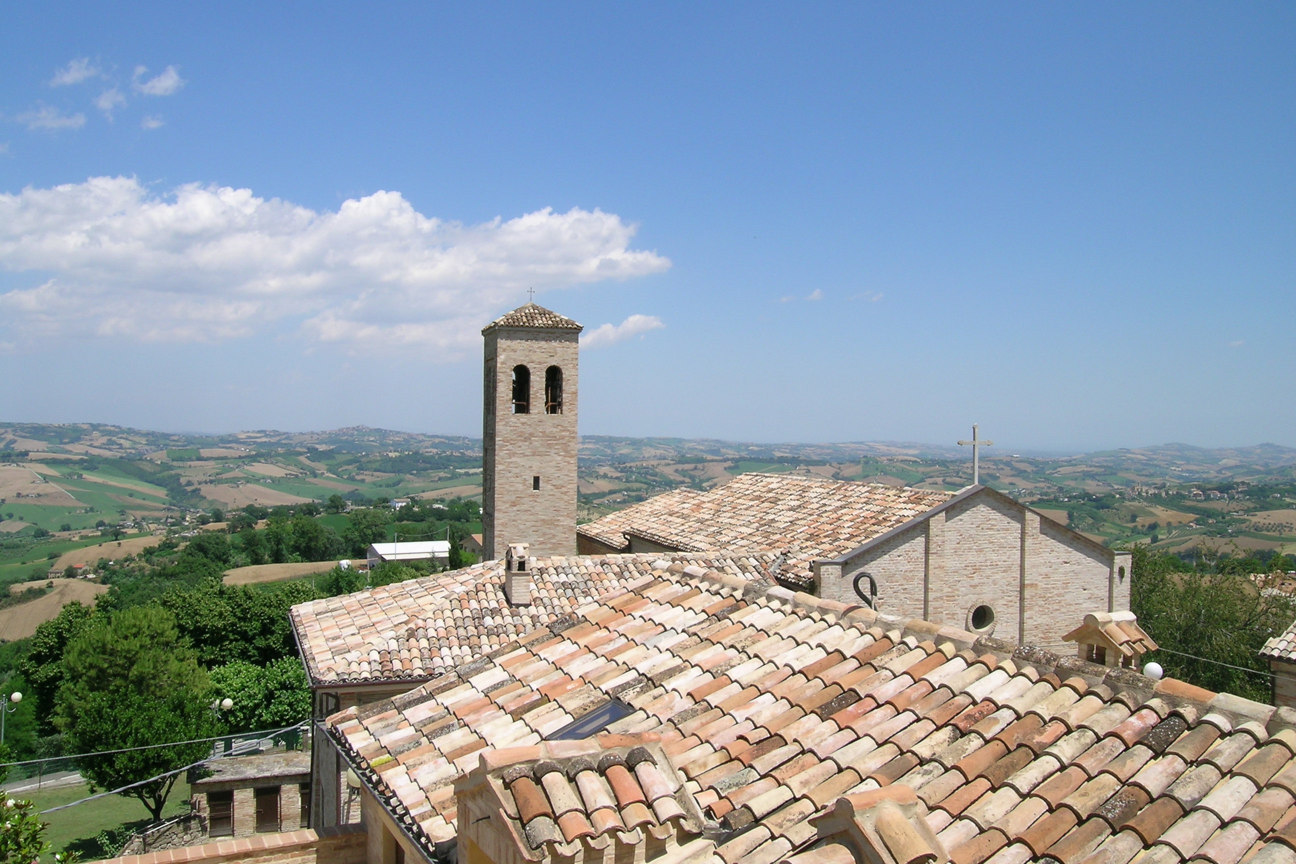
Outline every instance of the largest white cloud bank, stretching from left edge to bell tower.
{"label": "largest white cloud bank, stretching from left edge to bell tower", "polygon": [[[52,276],[0,294],[0,330],[216,342],[297,328],[356,348],[456,355],[529,286],[670,267],[630,249],[634,233],[599,210],[464,225],[424,216],[399,192],[319,212],[250,189],[189,184],[159,197],[133,177],[92,177],[0,194],[0,267]],[[642,317],[621,328],[643,332],[631,324]]]}

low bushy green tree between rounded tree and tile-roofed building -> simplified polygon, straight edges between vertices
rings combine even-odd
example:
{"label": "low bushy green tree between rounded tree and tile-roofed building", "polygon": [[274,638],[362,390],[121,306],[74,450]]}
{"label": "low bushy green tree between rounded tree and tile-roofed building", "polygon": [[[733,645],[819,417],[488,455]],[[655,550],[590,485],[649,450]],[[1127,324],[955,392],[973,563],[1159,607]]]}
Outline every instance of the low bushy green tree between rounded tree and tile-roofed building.
{"label": "low bushy green tree between rounded tree and tile-roofed building", "polygon": [[283,729],[311,715],[311,689],[295,657],[284,657],[266,667],[235,661],[211,670],[218,698],[235,706],[226,714],[231,732]]}

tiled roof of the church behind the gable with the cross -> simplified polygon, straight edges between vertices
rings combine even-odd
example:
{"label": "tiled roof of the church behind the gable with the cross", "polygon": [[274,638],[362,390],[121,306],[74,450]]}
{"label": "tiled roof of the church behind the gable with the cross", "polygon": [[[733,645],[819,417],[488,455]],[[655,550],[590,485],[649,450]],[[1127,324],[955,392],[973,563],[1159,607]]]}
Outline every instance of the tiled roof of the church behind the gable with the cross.
{"label": "tiled roof of the church behind the gable with the cross", "polygon": [[658,495],[577,532],[612,549],[627,549],[627,534],[689,552],[774,549],[787,554],[781,574],[805,584],[815,558],[849,552],[953,496],[820,477],[741,474],[706,492]]}

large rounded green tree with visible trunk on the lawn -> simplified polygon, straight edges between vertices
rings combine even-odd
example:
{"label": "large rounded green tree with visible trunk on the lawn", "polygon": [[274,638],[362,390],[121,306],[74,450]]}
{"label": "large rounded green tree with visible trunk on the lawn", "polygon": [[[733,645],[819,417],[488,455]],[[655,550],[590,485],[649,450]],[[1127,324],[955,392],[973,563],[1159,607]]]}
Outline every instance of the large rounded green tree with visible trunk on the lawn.
{"label": "large rounded green tree with visible trunk on the lawn", "polygon": [[[56,723],[74,753],[191,741],[220,732],[207,709],[207,674],[181,639],[175,615],[161,606],[92,618],[67,642],[62,662]],[[80,768],[105,789],[149,780],[122,795],[139,798],[153,819],[161,819],[178,775],[150,779],[207,753],[206,744],[127,750],[82,759]]]}

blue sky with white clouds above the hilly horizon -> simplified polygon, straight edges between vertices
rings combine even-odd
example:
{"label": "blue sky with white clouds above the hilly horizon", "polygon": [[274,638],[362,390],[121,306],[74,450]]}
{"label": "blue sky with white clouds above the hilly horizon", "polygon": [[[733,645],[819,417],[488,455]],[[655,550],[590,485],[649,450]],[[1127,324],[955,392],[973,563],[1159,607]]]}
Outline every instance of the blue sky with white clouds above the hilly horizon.
{"label": "blue sky with white clouds above the hilly horizon", "polygon": [[480,434],[535,285],[587,434],[1296,446],[1290,4],[6,22],[5,420]]}

